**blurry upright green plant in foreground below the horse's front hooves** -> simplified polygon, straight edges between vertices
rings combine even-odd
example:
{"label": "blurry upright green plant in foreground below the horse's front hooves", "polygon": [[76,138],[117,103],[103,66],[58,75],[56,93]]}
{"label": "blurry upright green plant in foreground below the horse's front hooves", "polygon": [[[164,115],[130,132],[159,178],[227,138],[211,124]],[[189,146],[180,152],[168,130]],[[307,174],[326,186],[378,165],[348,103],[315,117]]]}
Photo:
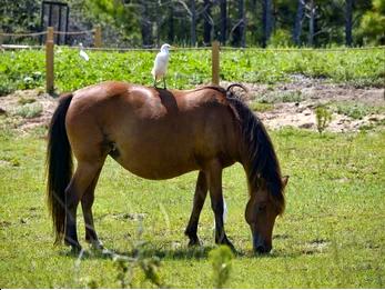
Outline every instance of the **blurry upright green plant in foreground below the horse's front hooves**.
{"label": "blurry upright green plant in foreground below the horse's front hooves", "polygon": [[214,288],[224,288],[231,273],[232,260],[234,254],[227,246],[220,246],[211,250],[209,259],[213,267]]}

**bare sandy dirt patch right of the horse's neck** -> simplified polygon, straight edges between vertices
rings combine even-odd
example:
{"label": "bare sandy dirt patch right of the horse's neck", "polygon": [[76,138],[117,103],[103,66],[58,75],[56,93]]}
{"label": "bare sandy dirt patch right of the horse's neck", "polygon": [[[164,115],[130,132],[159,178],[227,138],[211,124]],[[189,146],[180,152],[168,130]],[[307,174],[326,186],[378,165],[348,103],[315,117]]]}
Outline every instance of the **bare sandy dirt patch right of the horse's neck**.
{"label": "bare sandy dirt patch right of the horse's neck", "polygon": [[[227,87],[230,83],[221,84]],[[357,131],[384,127],[385,123],[384,88],[354,88],[302,76],[294,76],[290,83],[275,86],[243,84],[249,89],[249,94],[243,94],[247,102],[272,104],[270,110],[256,111],[270,129],[295,127],[315,131],[315,109],[320,104],[330,108],[332,114],[326,131]]]}

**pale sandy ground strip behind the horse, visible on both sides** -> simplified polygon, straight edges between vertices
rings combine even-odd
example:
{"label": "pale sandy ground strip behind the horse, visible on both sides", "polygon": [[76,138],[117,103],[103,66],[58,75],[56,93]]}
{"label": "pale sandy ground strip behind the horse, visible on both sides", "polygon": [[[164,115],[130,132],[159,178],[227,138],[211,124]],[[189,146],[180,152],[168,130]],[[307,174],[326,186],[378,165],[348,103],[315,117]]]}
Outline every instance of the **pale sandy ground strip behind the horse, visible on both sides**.
{"label": "pale sandy ground strip behind the horse, visible on both sides", "polygon": [[[333,112],[332,121],[327,131],[344,132],[356,131],[363,126],[384,124],[385,120],[385,90],[384,88],[353,88],[342,84],[331,84],[320,80],[311,80],[298,77],[291,83],[275,86],[249,84],[243,83],[249,93],[243,94],[245,101],[252,102],[261,99],[261,96],[269,100],[274,96],[294,93],[301,96],[300,101],[275,102],[272,109],[264,112],[256,112],[264,124],[270,129],[278,129],[285,126],[316,130],[315,108],[321,103],[333,102],[354,102],[372,107],[382,108],[379,113],[365,116],[361,120],[352,119],[347,116]],[[229,82],[222,82],[221,86],[227,87]],[[33,118],[14,117],[14,112],[22,104],[20,99],[32,99],[34,103],[40,103],[42,112]],[[57,106],[57,98],[52,98],[39,90],[16,91],[9,96],[0,97],[0,116],[6,119],[17,118],[14,126],[28,131],[37,126],[47,126],[52,112]]]}

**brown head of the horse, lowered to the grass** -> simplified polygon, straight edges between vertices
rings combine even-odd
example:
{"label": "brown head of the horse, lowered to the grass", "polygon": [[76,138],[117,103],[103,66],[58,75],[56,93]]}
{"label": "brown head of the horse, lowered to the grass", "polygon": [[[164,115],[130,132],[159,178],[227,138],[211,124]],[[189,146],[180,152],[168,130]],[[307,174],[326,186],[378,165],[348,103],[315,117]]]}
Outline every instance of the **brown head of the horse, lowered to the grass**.
{"label": "brown head of the horse, lowered to the grass", "polygon": [[[288,177],[282,178],[282,188],[287,184]],[[250,188],[250,200],[245,218],[253,234],[255,252],[269,253],[272,249],[272,234],[275,219],[283,212],[284,201],[277,200],[266,181],[260,179],[255,188]]]}

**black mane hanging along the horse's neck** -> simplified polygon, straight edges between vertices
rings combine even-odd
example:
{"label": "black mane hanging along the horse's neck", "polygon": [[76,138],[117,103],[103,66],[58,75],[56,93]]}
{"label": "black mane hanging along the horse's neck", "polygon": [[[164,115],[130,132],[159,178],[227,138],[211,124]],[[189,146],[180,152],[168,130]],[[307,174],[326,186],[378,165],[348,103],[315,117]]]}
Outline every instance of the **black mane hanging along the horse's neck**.
{"label": "black mane hanging along the horse's neck", "polygon": [[242,101],[242,98],[232,89],[239,87],[247,91],[242,84],[233,83],[224,89],[222,87],[207,86],[225,94],[231,109],[234,111],[240,122],[243,143],[246,150],[247,178],[251,184],[257,187],[257,181],[263,178],[273,198],[273,202],[280,213],[284,211],[285,198],[283,194],[284,184],[281,176],[281,168],[275,150],[265,127],[252,110]]}

